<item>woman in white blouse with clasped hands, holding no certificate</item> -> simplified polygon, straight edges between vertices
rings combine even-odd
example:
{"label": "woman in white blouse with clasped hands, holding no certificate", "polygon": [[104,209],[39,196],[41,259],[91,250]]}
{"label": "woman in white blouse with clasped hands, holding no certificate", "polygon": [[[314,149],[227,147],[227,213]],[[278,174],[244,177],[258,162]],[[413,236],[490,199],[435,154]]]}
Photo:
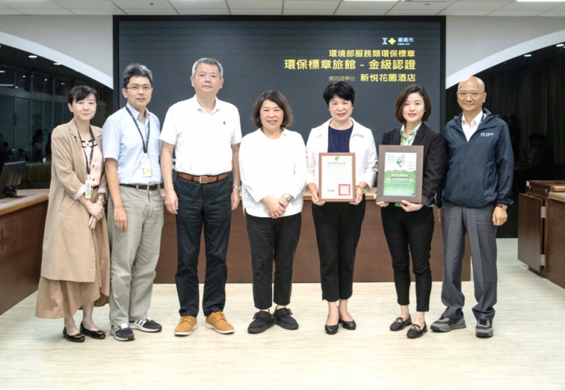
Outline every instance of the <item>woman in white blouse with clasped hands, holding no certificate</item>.
{"label": "woman in white blouse with clasped hands, holding no certificate", "polygon": [[[253,300],[259,309],[248,332],[263,333],[275,324],[293,330],[298,328],[298,322],[287,305],[302,223],[306,147],[299,133],[285,129],[292,124],[292,110],[282,93],[264,92],[255,102],[252,120],[259,130],[243,137],[239,150]],[[274,295],[273,261],[276,264]],[[273,300],[276,309],[271,314]]]}

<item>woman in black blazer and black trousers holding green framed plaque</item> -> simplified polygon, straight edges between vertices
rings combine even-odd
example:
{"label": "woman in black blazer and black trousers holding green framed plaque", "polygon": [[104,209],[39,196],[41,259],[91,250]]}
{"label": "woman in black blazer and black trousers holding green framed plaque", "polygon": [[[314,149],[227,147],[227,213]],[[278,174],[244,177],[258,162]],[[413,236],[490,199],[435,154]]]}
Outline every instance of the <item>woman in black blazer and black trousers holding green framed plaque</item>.
{"label": "woman in black blazer and black trousers holding green framed plaque", "polygon": [[[394,270],[394,286],[401,307],[401,314],[394,320],[390,330],[402,330],[412,325],[408,330],[409,338],[422,336],[427,332],[425,312],[429,311],[429,296],[431,293],[431,270],[429,267],[431,237],[434,234],[434,198],[441,180],[443,167],[443,137],[439,132],[431,130],[424,123],[431,114],[431,104],[428,94],[420,85],[408,85],[401,92],[396,102],[396,118],[402,123],[401,127],[385,132],[381,145],[406,146],[406,151],[414,146],[423,146],[422,167],[416,170],[422,172],[422,202],[377,202],[381,207],[382,228],[392,257]],[[381,151],[381,154],[383,152]],[[396,153],[398,154],[398,153]],[[387,159],[389,155],[380,155]],[[402,162],[402,161],[401,161]],[[399,164],[393,159],[393,163]],[[394,164],[393,164],[394,165]],[[398,168],[400,169],[400,168]],[[387,169],[382,169],[387,181]],[[398,171],[401,172],[401,171]],[[392,174],[394,176],[394,174]],[[407,176],[398,174],[397,176]],[[388,178],[406,183],[405,177]],[[385,183],[386,184],[386,183]],[[400,187],[399,187],[400,188]],[[381,188],[379,188],[380,192]],[[412,254],[413,272],[416,276],[416,315],[410,317],[410,254]]]}

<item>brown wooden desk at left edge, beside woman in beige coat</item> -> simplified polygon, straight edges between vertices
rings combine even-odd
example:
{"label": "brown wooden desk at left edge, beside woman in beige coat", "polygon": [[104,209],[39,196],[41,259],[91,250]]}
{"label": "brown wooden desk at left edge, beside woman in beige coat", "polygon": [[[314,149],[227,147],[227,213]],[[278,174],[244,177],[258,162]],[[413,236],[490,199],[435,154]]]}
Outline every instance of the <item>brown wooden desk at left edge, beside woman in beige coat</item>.
{"label": "brown wooden desk at left edge, beside woman in beige coat", "polygon": [[37,290],[49,190],[0,199],[0,314]]}

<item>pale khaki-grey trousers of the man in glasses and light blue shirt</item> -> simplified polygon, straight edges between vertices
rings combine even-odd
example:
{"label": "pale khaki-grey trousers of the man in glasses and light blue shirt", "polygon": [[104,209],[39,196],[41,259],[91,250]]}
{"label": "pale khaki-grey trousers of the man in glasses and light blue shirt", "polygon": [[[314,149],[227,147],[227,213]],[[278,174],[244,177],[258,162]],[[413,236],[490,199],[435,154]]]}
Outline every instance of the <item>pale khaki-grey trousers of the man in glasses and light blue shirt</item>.
{"label": "pale khaki-grey trousers of the man in glasses and light blue shirt", "polygon": [[127,231],[120,232],[116,227],[111,197],[108,203],[110,325],[148,316],[164,220],[161,190],[120,186],[120,194]]}

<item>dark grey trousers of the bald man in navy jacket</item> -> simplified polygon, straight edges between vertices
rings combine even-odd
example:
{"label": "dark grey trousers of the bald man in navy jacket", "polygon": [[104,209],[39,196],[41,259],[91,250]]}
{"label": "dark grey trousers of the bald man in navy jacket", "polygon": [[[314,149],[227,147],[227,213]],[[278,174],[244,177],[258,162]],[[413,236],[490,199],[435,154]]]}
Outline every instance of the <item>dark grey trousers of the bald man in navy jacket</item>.
{"label": "dark grey trousers of the bald man in navy jacket", "polygon": [[462,316],[465,296],[461,291],[461,271],[465,251],[465,234],[471,244],[476,319],[494,318],[496,304],[496,226],[492,223],[494,205],[470,209],[444,202],[441,208],[443,233],[443,285],[441,301],[447,306],[443,316],[459,319]]}

